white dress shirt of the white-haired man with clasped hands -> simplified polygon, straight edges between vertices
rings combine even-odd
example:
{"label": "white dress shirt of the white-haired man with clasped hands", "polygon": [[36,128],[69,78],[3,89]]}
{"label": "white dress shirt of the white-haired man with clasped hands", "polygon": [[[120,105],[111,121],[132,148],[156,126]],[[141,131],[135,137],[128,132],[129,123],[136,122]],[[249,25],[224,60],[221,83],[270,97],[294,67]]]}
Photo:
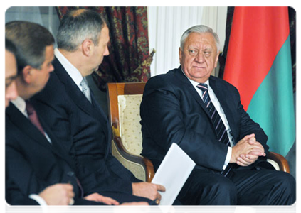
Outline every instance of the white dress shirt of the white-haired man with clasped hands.
{"label": "white dress shirt of the white-haired man with clasped hands", "polygon": [[[182,70],[183,72],[183,70]],[[183,72],[183,74],[186,76],[186,74]],[[187,77],[187,76],[186,76]],[[194,80],[191,80],[189,77],[187,77],[187,79],[189,80],[189,82],[191,82],[192,86],[194,86],[194,89],[196,89],[196,92],[199,94],[199,96],[201,97],[201,99],[203,99],[203,91],[201,91],[201,89],[198,89],[196,86],[199,84],[199,82],[195,82]],[[223,124],[226,127],[226,131],[228,133],[228,138],[230,140],[230,144],[231,147],[234,146],[233,143],[233,136],[231,135],[231,129],[230,126],[228,124],[228,120],[226,118],[226,114],[223,111],[223,108],[221,107],[221,104],[219,103],[216,94],[214,94],[213,89],[210,87],[209,85],[209,80],[207,80],[205,82],[205,84],[208,85],[208,94],[210,96],[211,102],[214,105],[214,107],[216,107],[216,111],[218,111],[219,116],[221,116],[221,120],[223,121]],[[228,163],[230,162],[231,159],[231,155],[232,155],[232,148],[230,146],[228,147],[228,153],[226,155],[226,159],[225,159],[225,163],[223,163],[223,169],[226,169]]]}

